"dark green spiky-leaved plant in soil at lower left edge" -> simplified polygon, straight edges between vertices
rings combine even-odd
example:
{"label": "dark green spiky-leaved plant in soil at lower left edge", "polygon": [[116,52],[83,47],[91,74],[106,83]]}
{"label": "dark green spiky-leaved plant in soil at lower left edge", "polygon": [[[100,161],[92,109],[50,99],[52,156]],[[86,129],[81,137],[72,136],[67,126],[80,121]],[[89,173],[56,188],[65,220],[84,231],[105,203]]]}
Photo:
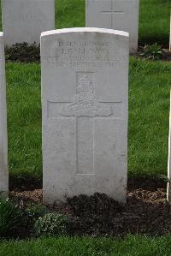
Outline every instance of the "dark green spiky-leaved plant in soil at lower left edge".
{"label": "dark green spiky-leaved plant in soil at lower left edge", "polygon": [[21,212],[9,199],[0,200],[0,237],[11,235],[21,223]]}

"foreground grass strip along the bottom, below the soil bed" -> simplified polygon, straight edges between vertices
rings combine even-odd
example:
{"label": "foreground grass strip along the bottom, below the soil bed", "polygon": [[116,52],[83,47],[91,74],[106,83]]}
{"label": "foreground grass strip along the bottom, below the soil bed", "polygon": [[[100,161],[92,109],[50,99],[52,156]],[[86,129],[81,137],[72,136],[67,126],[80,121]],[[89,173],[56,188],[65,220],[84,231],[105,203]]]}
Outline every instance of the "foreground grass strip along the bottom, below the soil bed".
{"label": "foreground grass strip along the bottom, below the soil bed", "polygon": [[0,241],[0,255],[29,256],[170,256],[171,236],[150,238],[127,235],[123,240],[91,237],[42,238],[31,241]]}

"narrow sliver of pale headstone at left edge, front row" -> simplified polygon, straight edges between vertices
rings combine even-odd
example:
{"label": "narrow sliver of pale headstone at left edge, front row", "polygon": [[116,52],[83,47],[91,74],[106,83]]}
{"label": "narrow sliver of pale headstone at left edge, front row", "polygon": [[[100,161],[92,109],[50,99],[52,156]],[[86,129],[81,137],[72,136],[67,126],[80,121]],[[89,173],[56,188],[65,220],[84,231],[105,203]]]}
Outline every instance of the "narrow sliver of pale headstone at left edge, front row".
{"label": "narrow sliver of pale headstone at left edge, front row", "polygon": [[7,152],[7,110],[3,33],[0,32],[0,197],[9,193]]}

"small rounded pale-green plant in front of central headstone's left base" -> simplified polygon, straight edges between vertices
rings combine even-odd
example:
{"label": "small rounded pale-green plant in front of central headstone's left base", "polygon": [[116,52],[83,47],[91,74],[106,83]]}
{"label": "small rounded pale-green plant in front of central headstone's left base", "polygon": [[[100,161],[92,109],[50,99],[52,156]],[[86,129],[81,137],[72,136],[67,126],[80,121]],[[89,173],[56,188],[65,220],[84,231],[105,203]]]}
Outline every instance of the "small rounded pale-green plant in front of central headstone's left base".
{"label": "small rounded pale-green plant in front of central headstone's left base", "polygon": [[69,218],[57,212],[39,217],[34,225],[35,234],[40,235],[68,235],[71,227]]}

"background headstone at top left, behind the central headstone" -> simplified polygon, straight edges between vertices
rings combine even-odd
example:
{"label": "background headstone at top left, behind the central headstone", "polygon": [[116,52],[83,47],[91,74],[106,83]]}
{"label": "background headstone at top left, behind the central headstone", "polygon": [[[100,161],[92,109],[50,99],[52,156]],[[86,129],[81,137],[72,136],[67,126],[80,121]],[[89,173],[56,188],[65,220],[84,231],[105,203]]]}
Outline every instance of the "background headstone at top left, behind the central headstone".
{"label": "background headstone at top left, behind the central headstone", "polygon": [[40,34],[55,28],[55,0],[2,0],[5,45],[40,43]]}

